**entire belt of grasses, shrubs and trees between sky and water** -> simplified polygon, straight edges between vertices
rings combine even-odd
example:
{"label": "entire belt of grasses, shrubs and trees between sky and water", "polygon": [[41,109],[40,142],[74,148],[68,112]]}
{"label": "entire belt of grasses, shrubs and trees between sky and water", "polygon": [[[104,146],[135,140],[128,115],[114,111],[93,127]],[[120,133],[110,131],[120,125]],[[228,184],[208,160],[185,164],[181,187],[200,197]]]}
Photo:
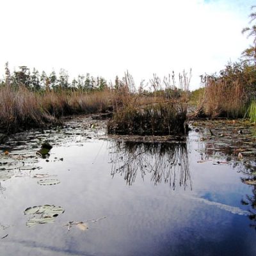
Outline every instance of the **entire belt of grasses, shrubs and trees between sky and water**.
{"label": "entire belt of grasses, shrubs and trees between sky and water", "polygon": [[[256,6],[252,6],[252,10]],[[242,33],[253,44],[241,60],[228,63],[219,74],[201,76],[202,88],[189,91],[191,70],[176,79],[174,72],[147,84],[134,84],[125,73],[114,83],[103,77],[79,75],[70,83],[67,71],[40,74],[35,68],[19,67],[11,73],[8,63],[0,79],[0,141],[10,134],[33,127],[60,125],[61,117],[74,114],[113,112],[109,134],[177,135],[188,132],[189,118],[248,118],[256,123],[256,12]]]}

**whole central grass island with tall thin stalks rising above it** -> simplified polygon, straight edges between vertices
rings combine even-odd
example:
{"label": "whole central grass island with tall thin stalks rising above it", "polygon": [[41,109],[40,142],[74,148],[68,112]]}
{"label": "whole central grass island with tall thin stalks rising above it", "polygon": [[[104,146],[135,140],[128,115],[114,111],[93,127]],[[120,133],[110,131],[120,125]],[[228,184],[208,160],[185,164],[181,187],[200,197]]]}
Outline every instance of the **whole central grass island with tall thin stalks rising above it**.
{"label": "whole central grass island with tall thin stalks rising above it", "polygon": [[[181,77],[188,89],[188,79]],[[166,80],[164,80],[166,81]],[[136,90],[129,73],[125,74],[113,94],[113,119],[108,122],[109,134],[171,135],[186,133],[186,92],[180,90],[179,99],[166,95],[156,75],[152,79],[154,92],[150,97]],[[169,92],[173,88],[168,87]],[[185,99],[185,100],[184,100]]]}

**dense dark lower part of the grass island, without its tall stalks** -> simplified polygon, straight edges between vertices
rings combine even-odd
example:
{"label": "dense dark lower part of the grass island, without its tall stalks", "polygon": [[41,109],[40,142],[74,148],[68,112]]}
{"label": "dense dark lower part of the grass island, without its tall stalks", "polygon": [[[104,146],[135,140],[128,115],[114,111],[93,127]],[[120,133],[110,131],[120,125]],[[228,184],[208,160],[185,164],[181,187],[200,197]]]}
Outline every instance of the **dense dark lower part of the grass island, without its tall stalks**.
{"label": "dense dark lower part of the grass island, without its tall stalks", "polygon": [[181,104],[129,106],[115,112],[108,122],[111,134],[170,135],[186,133],[186,109]]}

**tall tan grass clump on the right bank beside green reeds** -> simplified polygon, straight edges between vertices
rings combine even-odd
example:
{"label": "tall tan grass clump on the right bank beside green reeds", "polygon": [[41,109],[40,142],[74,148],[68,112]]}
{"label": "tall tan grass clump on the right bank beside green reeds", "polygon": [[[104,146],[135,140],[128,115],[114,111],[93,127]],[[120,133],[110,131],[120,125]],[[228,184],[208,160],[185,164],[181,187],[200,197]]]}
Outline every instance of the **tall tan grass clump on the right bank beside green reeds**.
{"label": "tall tan grass clump on the right bank beside green reeds", "polygon": [[197,115],[243,118],[251,91],[249,85],[255,81],[247,68],[234,63],[221,70],[220,76],[205,76],[204,96],[198,103]]}

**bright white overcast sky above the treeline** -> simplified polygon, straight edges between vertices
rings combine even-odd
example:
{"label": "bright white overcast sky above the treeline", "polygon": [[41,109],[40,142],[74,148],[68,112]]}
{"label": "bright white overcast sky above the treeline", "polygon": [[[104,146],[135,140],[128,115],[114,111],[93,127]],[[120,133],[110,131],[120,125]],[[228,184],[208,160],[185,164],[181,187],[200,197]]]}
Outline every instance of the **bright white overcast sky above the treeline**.
{"label": "bright white overcast sky above the treeline", "polygon": [[0,1],[0,74],[26,65],[89,72],[136,82],[184,68],[211,74],[236,61],[250,40],[253,0],[4,0]]}

